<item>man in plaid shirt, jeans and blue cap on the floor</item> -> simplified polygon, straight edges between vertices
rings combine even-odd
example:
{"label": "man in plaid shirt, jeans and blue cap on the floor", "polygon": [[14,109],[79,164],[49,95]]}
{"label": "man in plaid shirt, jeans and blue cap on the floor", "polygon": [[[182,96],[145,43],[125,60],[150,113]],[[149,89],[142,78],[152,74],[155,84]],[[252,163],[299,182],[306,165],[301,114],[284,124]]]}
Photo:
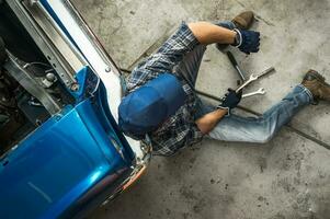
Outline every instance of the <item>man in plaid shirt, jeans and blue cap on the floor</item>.
{"label": "man in plaid shirt, jeans and blue cap on the floor", "polygon": [[330,101],[330,85],[315,70],[258,118],[230,113],[241,100],[241,93],[234,90],[228,90],[218,106],[196,96],[194,85],[207,45],[231,45],[246,54],[258,53],[260,33],[248,31],[252,22],[253,13],[243,12],[229,22],[181,24],[128,77],[127,93],[118,107],[122,130],[135,139],[151,141],[153,152],[161,155],[171,155],[203,136],[264,143],[304,106]]}

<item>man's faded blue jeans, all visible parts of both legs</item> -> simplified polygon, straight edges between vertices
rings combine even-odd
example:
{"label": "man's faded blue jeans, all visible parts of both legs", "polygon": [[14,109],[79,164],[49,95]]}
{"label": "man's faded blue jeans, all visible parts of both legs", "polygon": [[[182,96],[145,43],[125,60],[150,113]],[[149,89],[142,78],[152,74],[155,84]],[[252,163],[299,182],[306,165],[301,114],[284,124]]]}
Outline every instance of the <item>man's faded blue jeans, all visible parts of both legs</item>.
{"label": "man's faded blue jeans, all visible parts of both legs", "polygon": [[[232,22],[219,22],[217,25],[235,28]],[[205,45],[197,46],[189,53],[182,62],[178,66],[177,71],[184,74],[185,79],[192,85],[195,85],[198,69],[203,55],[206,50]],[[280,103],[272,106],[260,117],[241,117],[235,114],[224,117],[217,126],[207,135],[212,139],[224,141],[240,142],[259,142],[269,141],[283,125],[287,124],[291,118],[305,105],[312,101],[312,95],[301,84],[295,87]],[[208,105],[201,100],[197,104],[197,114],[203,116],[216,107]]]}

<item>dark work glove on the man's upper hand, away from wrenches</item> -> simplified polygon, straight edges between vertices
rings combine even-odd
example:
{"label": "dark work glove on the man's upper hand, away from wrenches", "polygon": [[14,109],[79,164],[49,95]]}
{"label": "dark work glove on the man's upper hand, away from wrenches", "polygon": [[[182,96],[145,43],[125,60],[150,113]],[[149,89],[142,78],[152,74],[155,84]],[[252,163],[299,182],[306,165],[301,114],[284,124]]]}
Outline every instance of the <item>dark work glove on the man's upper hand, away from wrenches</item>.
{"label": "dark work glove on the man's upper hand, away from wrenches", "polygon": [[250,54],[258,53],[260,46],[260,33],[255,31],[234,30],[237,35],[232,46],[239,48],[239,50]]}

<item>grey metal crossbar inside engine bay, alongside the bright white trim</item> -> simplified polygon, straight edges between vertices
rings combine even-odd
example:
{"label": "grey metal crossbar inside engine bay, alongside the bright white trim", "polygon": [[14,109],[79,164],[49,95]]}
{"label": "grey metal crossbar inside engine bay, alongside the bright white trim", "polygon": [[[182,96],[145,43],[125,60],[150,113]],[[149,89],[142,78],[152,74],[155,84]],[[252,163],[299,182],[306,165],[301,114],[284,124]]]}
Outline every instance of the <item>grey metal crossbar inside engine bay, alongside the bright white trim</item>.
{"label": "grey metal crossbar inside engine bay, alongside the bright white trim", "polygon": [[[53,19],[49,19],[41,2],[22,2],[20,0],[7,2],[53,68],[58,72],[65,85],[68,89],[75,87],[77,84],[75,74],[87,62],[60,27]],[[68,62],[67,60],[73,61]]]}

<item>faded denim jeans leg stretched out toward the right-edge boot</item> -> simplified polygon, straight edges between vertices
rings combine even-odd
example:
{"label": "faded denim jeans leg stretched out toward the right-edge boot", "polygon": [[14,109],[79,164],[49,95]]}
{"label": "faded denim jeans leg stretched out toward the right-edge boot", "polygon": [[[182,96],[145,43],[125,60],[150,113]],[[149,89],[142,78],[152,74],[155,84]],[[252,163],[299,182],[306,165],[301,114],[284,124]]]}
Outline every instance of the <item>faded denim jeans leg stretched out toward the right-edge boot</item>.
{"label": "faded denim jeans leg stretched out toward the right-edge boot", "polygon": [[223,118],[208,134],[208,137],[224,141],[264,143],[311,100],[311,93],[305,87],[297,85],[280,103],[260,117],[230,115]]}

